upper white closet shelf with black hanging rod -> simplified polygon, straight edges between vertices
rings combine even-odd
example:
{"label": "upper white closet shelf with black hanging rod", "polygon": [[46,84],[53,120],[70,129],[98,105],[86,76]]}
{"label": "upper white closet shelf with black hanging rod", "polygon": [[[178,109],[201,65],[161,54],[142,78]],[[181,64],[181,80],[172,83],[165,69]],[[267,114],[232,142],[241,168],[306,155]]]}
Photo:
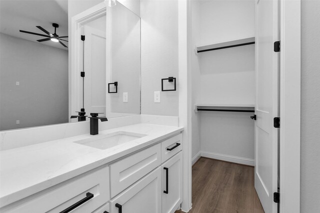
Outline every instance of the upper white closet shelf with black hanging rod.
{"label": "upper white closet shelf with black hanging rod", "polygon": [[217,50],[217,49],[244,46],[244,45],[249,45],[254,43],[255,43],[255,37],[249,37],[249,38],[243,38],[238,40],[226,41],[222,43],[214,43],[214,44],[209,44],[205,46],[198,46],[196,47],[196,52],[197,53],[206,52],[206,51]]}

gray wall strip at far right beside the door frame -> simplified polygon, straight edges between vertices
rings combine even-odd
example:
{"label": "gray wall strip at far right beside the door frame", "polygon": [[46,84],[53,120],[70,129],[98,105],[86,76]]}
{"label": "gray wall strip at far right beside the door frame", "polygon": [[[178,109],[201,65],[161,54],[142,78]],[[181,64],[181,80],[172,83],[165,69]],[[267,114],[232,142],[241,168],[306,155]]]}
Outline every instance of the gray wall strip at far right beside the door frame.
{"label": "gray wall strip at far right beside the door frame", "polygon": [[320,212],[320,1],[301,1],[300,212]]}

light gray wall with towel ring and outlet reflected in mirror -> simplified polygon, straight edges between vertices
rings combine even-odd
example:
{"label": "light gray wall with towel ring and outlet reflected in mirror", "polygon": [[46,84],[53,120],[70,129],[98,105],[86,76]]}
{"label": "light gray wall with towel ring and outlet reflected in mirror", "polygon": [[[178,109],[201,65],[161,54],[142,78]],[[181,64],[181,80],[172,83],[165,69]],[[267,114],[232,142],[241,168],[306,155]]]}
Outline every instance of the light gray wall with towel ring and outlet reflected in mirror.
{"label": "light gray wall with towel ring and outlet reflected in mirror", "polygon": [[[112,7],[111,81],[118,82],[110,97],[111,113],[140,114],[140,17],[121,4]],[[109,83],[109,82],[107,82]],[[128,102],[122,100],[128,93]]]}

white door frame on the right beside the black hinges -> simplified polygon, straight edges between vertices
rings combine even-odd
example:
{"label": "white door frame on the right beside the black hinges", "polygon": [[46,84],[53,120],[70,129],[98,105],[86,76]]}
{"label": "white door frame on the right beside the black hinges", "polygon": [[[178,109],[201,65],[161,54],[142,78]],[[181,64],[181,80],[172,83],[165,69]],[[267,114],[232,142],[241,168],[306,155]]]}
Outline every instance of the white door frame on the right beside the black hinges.
{"label": "white door frame on the right beside the black hinges", "polygon": [[300,210],[300,0],[280,0],[280,213]]}

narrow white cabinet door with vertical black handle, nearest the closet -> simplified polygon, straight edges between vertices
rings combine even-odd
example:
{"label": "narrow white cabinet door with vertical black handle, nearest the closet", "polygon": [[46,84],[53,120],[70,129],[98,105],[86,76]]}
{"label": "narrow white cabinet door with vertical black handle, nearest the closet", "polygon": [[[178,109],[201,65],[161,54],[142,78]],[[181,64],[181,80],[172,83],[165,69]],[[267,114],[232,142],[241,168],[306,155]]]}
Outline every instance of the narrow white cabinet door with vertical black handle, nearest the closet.
{"label": "narrow white cabinet door with vertical black handle, nearest the closet", "polygon": [[162,213],[174,213],[182,202],[182,152],[161,166]]}

